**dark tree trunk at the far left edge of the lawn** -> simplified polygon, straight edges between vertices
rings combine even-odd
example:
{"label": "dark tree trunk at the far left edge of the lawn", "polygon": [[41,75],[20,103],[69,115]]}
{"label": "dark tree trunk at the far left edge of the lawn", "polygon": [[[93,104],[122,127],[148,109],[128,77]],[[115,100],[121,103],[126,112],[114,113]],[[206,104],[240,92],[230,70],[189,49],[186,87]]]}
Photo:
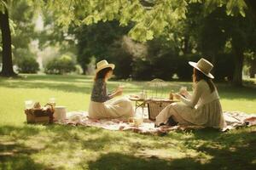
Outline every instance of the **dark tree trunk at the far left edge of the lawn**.
{"label": "dark tree trunk at the far left edge of the lawn", "polygon": [[7,8],[5,8],[5,13],[0,12],[0,28],[2,31],[2,41],[3,41],[3,67],[1,76],[3,77],[13,77],[15,76],[15,71],[13,69],[12,61],[12,49],[11,49],[11,33],[9,29],[9,14]]}

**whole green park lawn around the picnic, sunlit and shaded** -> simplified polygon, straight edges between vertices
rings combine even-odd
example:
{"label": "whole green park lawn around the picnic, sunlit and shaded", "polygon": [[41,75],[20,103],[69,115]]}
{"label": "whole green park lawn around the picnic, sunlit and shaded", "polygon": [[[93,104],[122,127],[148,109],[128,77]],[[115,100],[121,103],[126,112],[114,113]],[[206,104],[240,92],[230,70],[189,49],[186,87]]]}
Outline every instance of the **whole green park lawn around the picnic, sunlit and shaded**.
{"label": "whole green park lawn around the picnic, sunlit and shaded", "polygon": [[[125,85],[125,94],[147,88],[146,82],[108,84],[109,89]],[[26,99],[44,104],[55,97],[57,105],[66,105],[68,111],[86,111],[91,85],[92,77],[84,76],[0,77],[0,169],[255,169],[256,127],[228,133],[208,128],[160,137],[24,123]],[[167,96],[184,85],[191,90],[189,82],[167,82],[163,91]],[[256,88],[218,84],[218,91],[224,111],[256,113]]]}

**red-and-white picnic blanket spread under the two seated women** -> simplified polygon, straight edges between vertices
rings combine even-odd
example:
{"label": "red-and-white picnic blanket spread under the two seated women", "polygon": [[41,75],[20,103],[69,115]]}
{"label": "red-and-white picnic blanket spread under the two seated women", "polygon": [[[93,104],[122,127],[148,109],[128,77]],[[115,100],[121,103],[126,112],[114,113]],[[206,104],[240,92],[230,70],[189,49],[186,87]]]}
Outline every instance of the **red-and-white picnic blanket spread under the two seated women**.
{"label": "red-and-white picnic blanket spread under the two seated women", "polygon": [[[148,120],[147,113],[137,112],[137,116],[143,116],[143,123],[136,127],[132,122],[127,119],[90,119],[88,112],[86,111],[71,111],[67,113],[67,119],[61,122],[55,122],[63,125],[72,126],[84,126],[84,127],[100,127],[113,131],[132,131],[135,133],[144,134],[166,134],[173,130],[189,130],[189,129],[201,129],[205,127],[201,126],[161,126],[154,127],[154,122]],[[224,111],[224,119],[227,123],[227,127],[222,129],[222,132],[226,132],[230,129],[237,127],[250,127],[256,125],[256,114],[246,114],[239,111]]]}

